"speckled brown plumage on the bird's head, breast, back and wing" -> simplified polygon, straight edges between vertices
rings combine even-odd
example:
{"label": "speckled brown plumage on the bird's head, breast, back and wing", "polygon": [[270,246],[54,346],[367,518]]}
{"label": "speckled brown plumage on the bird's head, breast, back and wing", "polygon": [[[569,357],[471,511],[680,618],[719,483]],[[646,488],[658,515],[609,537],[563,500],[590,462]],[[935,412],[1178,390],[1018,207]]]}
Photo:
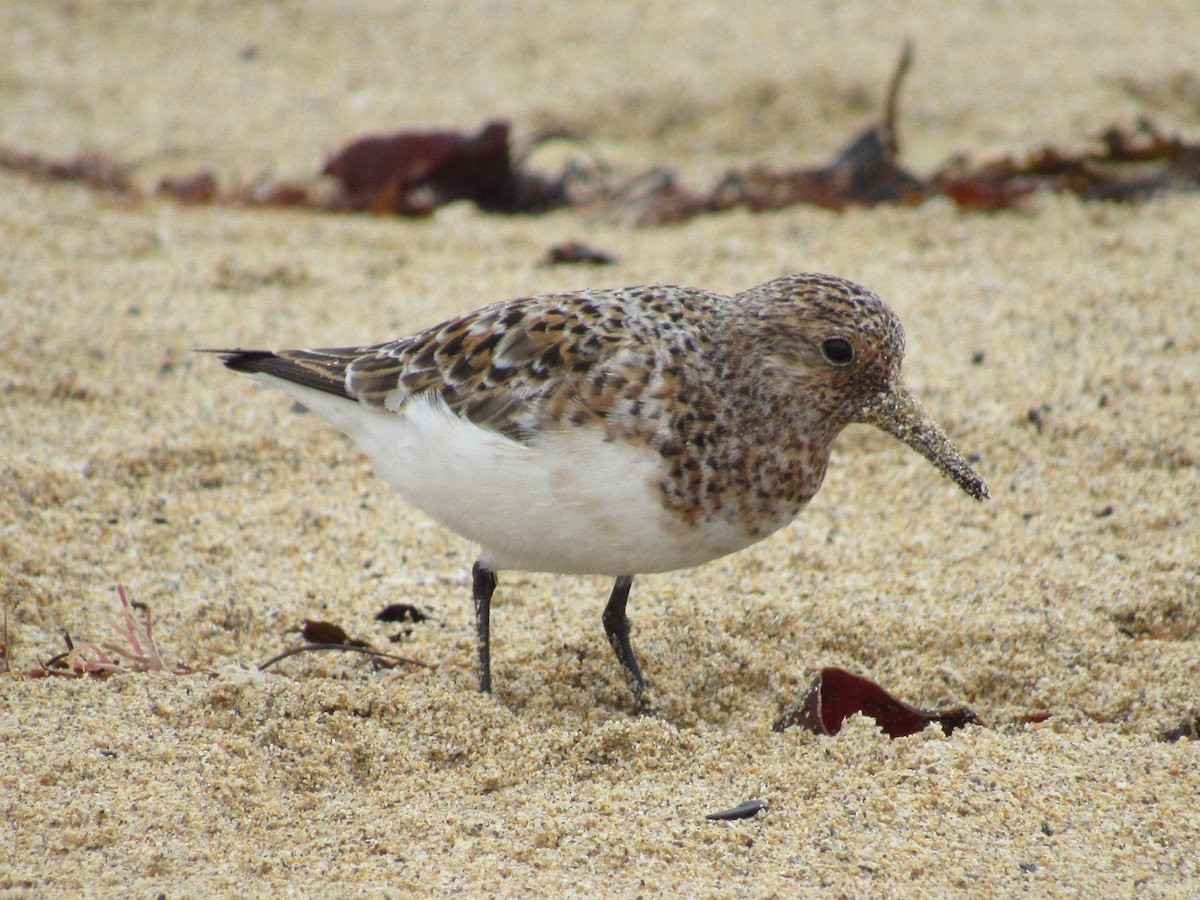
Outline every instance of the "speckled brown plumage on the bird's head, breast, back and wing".
{"label": "speckled brown plumage on the bird's head, breast, back and wing", "polygon": [[[852,342],[852,365],[822,356],[829,336]],[[872,293],[793,275],[734,296],[654,284],[509,300],[389,343],[276,358],[380,410],[432,392],[518,442],[584,426],[648,446],[665,506],[761,536],[812,497],[834,437],[902,353]]]}

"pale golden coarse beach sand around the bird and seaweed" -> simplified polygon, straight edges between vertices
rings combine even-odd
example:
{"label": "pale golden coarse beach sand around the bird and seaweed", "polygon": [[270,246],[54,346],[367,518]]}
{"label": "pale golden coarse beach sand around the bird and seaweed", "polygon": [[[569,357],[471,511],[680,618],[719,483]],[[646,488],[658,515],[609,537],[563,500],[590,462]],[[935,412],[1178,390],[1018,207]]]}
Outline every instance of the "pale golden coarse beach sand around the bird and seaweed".
{"label": "pale golden coarse beach sand around the bird and seaweed", "polygon": [[[510,118],[697,184],[815,163],[905,36],[930,170],[1152,115],[1196,136],[1190,2],[294,2],[0,7],[0,143],[160,174],[306,179],[355,134]],[[553,156],[553,155],[551,155]],[[133,203],[0,173],[0,890],[12,896],[1200,894],[1200,200],[1043,197],[428,221]],[[582,239],[607,269],[542,268]],[[659,719],[629,715],[600,578],[502,576],[211,346],[383,340],[491,300],[823,270],[882,294],[976,504],[864,427],[790,528],[638,578]],[[1031,421],[1030,410],[1039,412]],[[31,678],[110,637],[115,586],[193,674]],[[377,623],[386,604],[430,619]],[[311,654],[305,618],[436,668]],[[770,731],[822,666],[986,722]],[[1038,724],[1025,719],[1038,713]],[[749,798],[769,811],[708,812]]]}

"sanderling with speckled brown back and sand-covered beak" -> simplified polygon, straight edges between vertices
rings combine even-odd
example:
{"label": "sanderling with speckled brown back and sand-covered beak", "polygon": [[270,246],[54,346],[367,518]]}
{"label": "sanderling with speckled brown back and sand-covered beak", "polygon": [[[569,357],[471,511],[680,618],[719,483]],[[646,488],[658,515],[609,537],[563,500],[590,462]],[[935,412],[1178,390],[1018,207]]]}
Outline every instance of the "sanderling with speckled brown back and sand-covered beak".
{"label": "sanderling with speckled brown back and sand-covered beak", "polygon": [[550,294],[388,343],[217,353],[341,428],[409,503],[479,545],[482,691],[497,572],[607,575],[605,634],[643,710],[625,616],[634,576],[707,563],[791,522],[852,422],[988,497],[900,385],[895,313],[828,275],[734,296]]}

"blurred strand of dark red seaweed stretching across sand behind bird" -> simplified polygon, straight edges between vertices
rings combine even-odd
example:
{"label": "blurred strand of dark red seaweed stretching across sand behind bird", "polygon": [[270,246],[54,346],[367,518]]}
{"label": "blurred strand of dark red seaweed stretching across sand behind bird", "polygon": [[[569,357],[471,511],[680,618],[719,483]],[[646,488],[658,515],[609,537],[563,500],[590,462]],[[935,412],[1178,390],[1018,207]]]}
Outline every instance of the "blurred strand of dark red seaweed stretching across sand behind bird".
{"label": "blurred strand of dark red seaweed stretching across sand behind bird", "polygon": [[[473,134],[410,130],[356,138],[337,150],[320,173],[337,182],[332,193],[317,185],[266,180],[222,190],[211,172],[161,179],[150,193],[190,204],[416,217],[455,200],[470,200],[487,212],[500,214],[592,205],[636,224],[661,226],[738,208],[762,212],[809,204],[842,210],[946,197],[961,209],[1000,211],[1043,192],[1127,203],[1200,190],[1200,143],[1168,134],[1147,118],[1138,119],[1133,128],[1110,125],[1099,132],[1098,146],[1090,149],[1063,150],[1046,144],[1024,157],[1009,155],[978,166],[960,155],[928,176],[917,175],[900,163],[898,128],[900,90],[913,58],[913,43],[906,41],[880,120],[852,137],[828,163],[734,169],[708,191],[683,185],[674,172],[662,167],[613,186],[610,167],[580,136],[547,132],[514,150],[511,124],[494,119]],[[533,172],[527,166],[529,156],[552,142],[572,142],[590,160],[568,162],[556,175]],[[97,154],[52,160],[0,148],[0,168],[42,180],[78,181],[134,200],[144,196],[133,176],[136,164]],[[547,264],[560,262],[600,260],[568,253]]]}

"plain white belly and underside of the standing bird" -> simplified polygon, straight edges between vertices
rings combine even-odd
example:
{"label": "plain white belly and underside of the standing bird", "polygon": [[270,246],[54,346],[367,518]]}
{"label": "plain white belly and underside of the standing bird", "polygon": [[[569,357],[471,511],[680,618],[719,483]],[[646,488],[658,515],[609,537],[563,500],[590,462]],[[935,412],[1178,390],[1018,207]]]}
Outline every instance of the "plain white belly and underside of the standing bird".
{"label": "plain white belly and underside of the standing bird", "polygon": [[595,428],[522,444],[456,416],[437,398],[400,414],[286,383],[346,432],[414,506],[481,548],[493,570],[638,575],[700,565],[749,546],[737,521],[691,527],[664,508],[661,458]]}

